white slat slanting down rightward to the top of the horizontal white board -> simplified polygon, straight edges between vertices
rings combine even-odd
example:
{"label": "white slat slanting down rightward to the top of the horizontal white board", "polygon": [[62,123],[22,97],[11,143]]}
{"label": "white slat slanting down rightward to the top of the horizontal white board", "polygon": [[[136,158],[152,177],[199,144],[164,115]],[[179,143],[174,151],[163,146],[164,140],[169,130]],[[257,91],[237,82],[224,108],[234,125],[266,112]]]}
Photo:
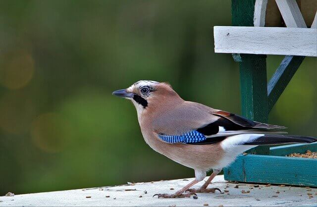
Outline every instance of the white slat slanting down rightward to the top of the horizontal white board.
{"label": "white slat slanting down rightward to the top of the horizontal white board", "polygon": [[287,27],[307,28],[296,0],[275,0]]}

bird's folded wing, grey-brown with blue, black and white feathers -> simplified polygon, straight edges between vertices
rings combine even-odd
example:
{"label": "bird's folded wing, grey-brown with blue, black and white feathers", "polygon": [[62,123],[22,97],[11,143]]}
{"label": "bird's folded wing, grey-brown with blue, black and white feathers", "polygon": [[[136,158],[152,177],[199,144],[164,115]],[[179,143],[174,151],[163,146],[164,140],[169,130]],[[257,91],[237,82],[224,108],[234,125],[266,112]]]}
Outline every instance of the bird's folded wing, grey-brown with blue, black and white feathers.
{"label": "bird's folded wing, grey-brown with blue, black and white feathers", "polygon": [[154,122],[158,138],[168,143],[211,144],[239,134],[285,133],[285,127],[246,119],[203,104],[184,102]]}

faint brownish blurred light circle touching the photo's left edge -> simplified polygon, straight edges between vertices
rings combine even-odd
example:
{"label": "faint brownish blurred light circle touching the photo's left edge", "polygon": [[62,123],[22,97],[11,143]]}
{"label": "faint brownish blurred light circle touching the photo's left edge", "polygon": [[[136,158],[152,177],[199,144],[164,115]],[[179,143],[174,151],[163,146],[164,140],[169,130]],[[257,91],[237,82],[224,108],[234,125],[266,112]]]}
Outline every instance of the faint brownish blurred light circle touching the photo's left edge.
{"label": "faint brownish blurred light circle touching the photo's left edge", "polygon": [[20,89],[33,77],[34,60],[29,51],[16,50],[0,55],[0,84],[8,89]]}

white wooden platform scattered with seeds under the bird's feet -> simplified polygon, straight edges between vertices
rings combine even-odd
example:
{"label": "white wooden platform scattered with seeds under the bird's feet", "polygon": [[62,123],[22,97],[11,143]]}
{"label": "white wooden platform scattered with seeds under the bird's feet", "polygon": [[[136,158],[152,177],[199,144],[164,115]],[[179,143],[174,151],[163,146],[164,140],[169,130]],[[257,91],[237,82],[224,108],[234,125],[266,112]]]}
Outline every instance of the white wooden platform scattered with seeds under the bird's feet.
{"label": "white wooden platform scattered with seeds under the bird's feet", "polygon": [[[156,193],[174,193],[186,185],[187,180],[136,183],[115,187],[100,187],[47,193],[23,194],[0,197],[0,206],[316,206],[317,189],[236,184],[223,180],[219,175],[210,187],[220,188],[223,194],[199,193],[198,199],[158,199]],[[196,185],[196,187],[199,187]],[[238,185],[238,188],[235,186]],[[228,187],[226,187],[228,186]],[[172,189],[172,190],[171,190]],[[173,190],[174,189],[174,190]],[[224,192],[224,190],[228,192]],[[241,191],[250,191],[242,193]],[[145,193],[146,192],[146,193]],[[279,193],[276,193],[279,192]],[[13,192],[14,193],[14,192]],[[312,194],[311,198],[308,194]]]}

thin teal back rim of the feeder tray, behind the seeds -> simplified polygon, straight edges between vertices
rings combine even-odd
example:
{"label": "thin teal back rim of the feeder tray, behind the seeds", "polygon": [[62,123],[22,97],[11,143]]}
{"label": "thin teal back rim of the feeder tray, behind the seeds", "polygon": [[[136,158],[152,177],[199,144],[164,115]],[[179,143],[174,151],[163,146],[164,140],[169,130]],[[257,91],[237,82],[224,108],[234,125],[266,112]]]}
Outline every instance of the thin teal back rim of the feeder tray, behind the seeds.
{"label": "thin teal back rim of the feeder tray, behind the seeds", "polygon": [[317,152],[317,143],[312,144],[294,144],[294,145],[283,145],[278,147],[271,147],[269,149],[270,155],[285,156],[291,153],[306,153],[308,150]]}

